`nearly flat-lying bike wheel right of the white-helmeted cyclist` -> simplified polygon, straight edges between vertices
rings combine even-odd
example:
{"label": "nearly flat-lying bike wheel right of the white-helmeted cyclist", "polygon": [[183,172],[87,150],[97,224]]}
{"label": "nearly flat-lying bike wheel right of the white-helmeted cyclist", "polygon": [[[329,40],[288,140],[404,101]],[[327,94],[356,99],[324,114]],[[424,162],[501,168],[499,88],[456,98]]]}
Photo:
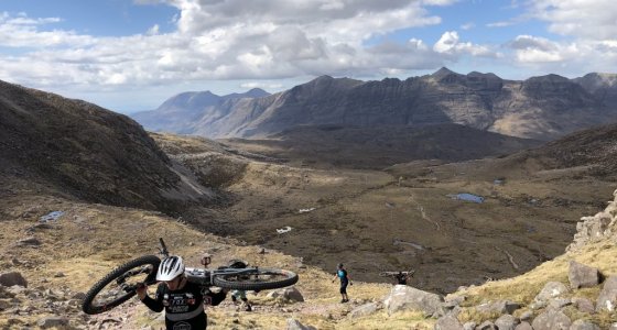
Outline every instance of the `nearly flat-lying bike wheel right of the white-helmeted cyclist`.
{"label": "nearly flat-lying bike wheel right of the white-helmeted cyclist", "polygon": [[[236,270],[237,271],[237,270]],[[255,268],[240,274],[215,275],[214,285],[236,290],[267,290],[293,285],[297,274],[277,268]]]}

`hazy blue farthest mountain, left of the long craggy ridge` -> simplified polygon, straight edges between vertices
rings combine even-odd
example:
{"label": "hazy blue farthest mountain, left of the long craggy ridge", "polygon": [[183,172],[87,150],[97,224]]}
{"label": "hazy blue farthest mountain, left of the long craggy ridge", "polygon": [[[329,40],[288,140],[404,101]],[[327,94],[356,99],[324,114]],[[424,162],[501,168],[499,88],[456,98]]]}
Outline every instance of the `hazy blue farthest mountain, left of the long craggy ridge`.
{"label": "hazy blue farthest mountain, left of the long craggy ridge", "polygon": [[269,95],[260,88],[226,96],[217,96],[210,91],[188,91],[171,97],[155,110],[136,112],[131,117],[150,131],[191,133],[195,120],[208,111],[216,112],[226,101]]}

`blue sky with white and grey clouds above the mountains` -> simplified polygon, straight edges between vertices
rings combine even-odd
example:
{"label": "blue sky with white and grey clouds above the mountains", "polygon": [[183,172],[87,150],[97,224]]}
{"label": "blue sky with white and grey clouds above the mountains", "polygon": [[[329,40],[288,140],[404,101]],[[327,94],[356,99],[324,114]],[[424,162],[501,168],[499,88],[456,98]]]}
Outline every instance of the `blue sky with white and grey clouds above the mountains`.
{"label": "blue sky with white and grey clouds above the mountains", "polygon": [[0,80],[131,113],[322,75],[575,78],[617,73],[614,1],[0,0]]}

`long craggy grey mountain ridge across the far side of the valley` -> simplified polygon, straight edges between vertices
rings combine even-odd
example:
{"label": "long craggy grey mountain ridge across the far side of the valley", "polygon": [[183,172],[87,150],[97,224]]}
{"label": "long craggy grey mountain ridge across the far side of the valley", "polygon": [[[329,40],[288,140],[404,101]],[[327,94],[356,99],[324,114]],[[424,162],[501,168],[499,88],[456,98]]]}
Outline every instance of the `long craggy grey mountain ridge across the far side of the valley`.
{"label": "long craggy grey mountain ridge across the far side of the valley", "polygon": [[[192,112],[192,124],[172,131],[208,138],[263,138],[296,125],[456,123],[548,141],[617,120],[614,80],[606,75],[593,78],[596,76],[571,80],[546,75],[516,81],[476,72],[461,75],[447,68],[405,80],[322,76],[275,95],[203,108],[201,117]],[[166,125],[172,128],[173,118],[170,120]]]}

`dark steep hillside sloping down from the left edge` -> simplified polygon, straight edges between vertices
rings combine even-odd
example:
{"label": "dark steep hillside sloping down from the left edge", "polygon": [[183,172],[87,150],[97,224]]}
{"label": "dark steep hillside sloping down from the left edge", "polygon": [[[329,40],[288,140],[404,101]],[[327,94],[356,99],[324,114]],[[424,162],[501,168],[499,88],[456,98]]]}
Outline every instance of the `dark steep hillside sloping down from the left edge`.
{"label": "dark steep hillside sloping down from the left edge", "polygon": [[21,178],[47,193],[162,211],[212,197],[126,116],[3,81],[0,110],[7,185]]}

